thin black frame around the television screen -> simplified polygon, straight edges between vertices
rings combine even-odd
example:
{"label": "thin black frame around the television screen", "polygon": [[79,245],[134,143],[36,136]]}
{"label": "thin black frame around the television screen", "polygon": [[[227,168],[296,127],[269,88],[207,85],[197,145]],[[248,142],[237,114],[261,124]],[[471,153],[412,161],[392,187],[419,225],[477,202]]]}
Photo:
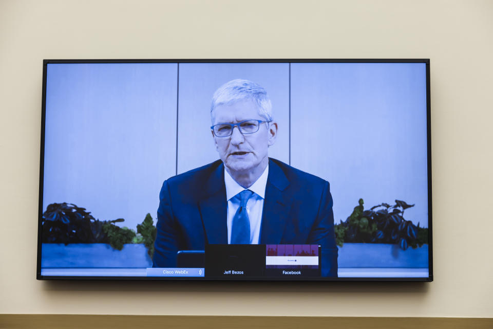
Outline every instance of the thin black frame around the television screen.
{"label": "thin black frame around the television screen", "polygon": [[[426,130],[428,158],[428,278],[186,278],[186,277],[99,277],[99,276],[43,276],[41,275],[41,247],[43,222],[43,179],[45,150],[45,119],[46,119],[46,78],[48,64],[96,64],[96,63],[424,63],[426,64]],[[430,97],[430,59],[118,59],[118,60],[43,60],[43,86],[41,99],[41,149],[40,149],[40,185],[39,208],[37,221],[37,280],[153,280],[153,281],[269,281],[269,282],[432,282],[433,281],[433,248],[432,248],[432,194],[431,194],[431,97]]]}

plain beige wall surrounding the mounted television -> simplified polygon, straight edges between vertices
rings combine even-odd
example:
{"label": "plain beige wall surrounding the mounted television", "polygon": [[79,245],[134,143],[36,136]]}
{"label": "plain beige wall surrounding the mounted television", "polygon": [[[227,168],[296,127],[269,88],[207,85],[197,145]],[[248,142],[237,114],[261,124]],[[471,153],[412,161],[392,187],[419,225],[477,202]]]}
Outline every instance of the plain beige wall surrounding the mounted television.
{"label": "plain beige wall surrounding the mounted television", "polygon": [[[493,1],[0,0],[0,313],[493,317]],[[432,283],[35,280],[43,59],[430,58]]]}

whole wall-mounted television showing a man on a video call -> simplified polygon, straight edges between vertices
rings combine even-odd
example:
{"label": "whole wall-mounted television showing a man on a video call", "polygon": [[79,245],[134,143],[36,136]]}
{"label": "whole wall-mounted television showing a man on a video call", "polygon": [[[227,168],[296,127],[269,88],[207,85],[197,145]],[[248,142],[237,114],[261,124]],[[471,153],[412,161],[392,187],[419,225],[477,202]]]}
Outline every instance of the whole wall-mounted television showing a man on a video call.
{"label": "whole wall-mounted television showing a man on a video call", "polygon": [[45,60],[38,279],[431,281],[429,60]]}

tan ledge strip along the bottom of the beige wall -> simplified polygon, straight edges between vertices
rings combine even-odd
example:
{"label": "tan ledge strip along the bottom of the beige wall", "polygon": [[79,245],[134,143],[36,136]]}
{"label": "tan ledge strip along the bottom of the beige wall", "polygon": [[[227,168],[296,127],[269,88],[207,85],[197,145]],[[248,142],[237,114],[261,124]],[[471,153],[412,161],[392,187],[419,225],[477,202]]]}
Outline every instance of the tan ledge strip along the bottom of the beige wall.
{"label": "tan ledge strip along the bottom of the beige wall", "polygon": [[0,314],[0,328],[492,328],[493,318]]}

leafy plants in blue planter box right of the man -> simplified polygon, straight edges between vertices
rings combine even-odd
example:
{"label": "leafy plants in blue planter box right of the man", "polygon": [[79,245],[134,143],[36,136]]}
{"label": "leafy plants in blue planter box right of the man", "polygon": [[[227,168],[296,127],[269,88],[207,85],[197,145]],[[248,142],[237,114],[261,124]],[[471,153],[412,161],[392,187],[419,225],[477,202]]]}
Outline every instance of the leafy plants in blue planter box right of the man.
{"label": "leafy plants in blue planter box right of the man", "polygon": [[363,205],[359,199],[346,221],[334,227],[339,267],[428,267],[428,229],[404,218],[414,205],[402,200],[367,210]]}

